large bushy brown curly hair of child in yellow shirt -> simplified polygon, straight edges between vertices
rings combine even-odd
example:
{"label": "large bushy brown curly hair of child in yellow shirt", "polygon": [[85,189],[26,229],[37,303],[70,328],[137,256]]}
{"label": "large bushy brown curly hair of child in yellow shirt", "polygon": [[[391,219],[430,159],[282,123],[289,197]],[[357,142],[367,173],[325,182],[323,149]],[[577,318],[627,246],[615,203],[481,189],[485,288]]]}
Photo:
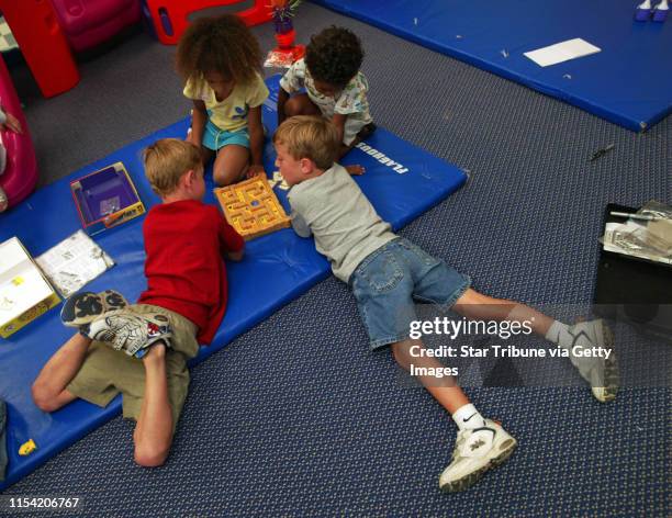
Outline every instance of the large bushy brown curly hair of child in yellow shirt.
{"label": "large bushy brown curly hair of child in yellow shirt", "polygon": [[214,71],[245,85],[261,71],[261,48],[235,14],[200,18],[180,37],[176,68],[184,81]]}

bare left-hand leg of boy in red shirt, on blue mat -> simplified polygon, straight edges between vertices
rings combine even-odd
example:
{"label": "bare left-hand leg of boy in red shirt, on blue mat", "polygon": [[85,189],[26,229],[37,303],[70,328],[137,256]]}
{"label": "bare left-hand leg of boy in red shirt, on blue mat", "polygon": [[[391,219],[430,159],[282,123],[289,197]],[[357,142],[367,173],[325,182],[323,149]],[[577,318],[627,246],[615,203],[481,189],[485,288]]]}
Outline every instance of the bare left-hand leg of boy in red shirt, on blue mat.
{"label": "bare left-hand leg of boy in red shirt, on blue mat", "polygon": [[40,409],[54,412],[77,398],[66,386],[79,371],[90,345],[91,339],[78,333],[49,358],[32,386]]}

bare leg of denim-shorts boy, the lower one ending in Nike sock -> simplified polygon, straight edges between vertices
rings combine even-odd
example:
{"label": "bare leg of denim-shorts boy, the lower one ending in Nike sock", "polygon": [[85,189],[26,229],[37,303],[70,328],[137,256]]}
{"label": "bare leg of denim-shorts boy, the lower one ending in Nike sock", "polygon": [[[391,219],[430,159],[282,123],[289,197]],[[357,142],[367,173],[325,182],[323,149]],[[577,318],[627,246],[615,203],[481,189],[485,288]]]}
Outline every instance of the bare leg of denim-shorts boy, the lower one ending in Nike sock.
{"label": "bare leg of denim-shorts boy, the lower one ending in Nike sock", "polygon": [[[392,345],[392,353],[396,363],[399,363],[404,370],[411,369],[411,363],[415,367],[443,369],[445,365],[434,357],[425,357],[419,354],[411,354],[412,347],[424,348],[419,340],[407,339],[404,341],[397,341]],[[412,361],[413,360],[413,361]],[[459,408],[469,404],[469,398],[458,386],[455,378],[435,378],[435,376],[417,376],[423,386],[434,396],[434,398],[441,405],[450,415],[455,414]]]}

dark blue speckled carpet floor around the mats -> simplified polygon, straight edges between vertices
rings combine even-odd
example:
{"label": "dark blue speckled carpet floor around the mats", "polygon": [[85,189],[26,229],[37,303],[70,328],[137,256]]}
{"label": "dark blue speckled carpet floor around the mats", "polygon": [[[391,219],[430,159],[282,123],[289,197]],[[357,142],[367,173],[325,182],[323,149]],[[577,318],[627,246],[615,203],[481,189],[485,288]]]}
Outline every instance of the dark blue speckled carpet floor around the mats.
{"label": "dark blue speckled carpet floor around the mats", "polygon": [[[303,4],[295,20],[303,42],[333,23],[362,38],[377,122],[471,171],[464,188],[402,234],[479,290],[538,306],[589,304],[604,205],[672,202],[669,117],[637,135],[316,5]],[[272,45],[264,27],[255,31]],[[186,113],[171,52],[137,36],[83,65],[81,90],[27,105],[35,140],[54,147],[56,164],[66,164],[66,143],[86,142],[63,173],[81,167],[77,153],[104,156],[142,124],[156,130],[181,116],[171,110]],[[105,89],[127,61],[144,78]],[[150,103],[157,83],[170,87],[159,105]],[[99,92],[105,111],[93,114]],[[87,126],[63,124],[51,137],[47,121],[70,113]],[[116,132],[107,139],[91,133],[100,117]],[[608,144],[609,154],[589,161]],[[58,169],[48,156],[43,164]],[[672,515],[669,387],[626,388],[612,405],[583,387],[468,393],[520,447],[469,492],[444,495],[436,484],[453,424],[399,376],[389,353],[368,351],[351,294],[331,278],[193,370],[167,465],[135,466],[132,425],[119,418],[4,495],[80,495],[89,516],[115,517]]]}

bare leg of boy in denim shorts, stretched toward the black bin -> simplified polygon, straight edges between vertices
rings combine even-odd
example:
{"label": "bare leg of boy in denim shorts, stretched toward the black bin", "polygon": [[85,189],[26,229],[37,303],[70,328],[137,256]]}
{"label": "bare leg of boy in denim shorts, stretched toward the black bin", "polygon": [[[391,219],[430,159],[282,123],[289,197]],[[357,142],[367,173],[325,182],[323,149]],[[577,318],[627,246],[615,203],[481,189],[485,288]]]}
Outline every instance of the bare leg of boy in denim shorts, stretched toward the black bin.
{"label": "bare leg of boy in denim shorts, stretched toward the black bin", "polygon": [[553,319],[519,302],[483,295],[468,289],[452,306],[457,313],[470,319],[527,322],[536,335],[545,337]]}

